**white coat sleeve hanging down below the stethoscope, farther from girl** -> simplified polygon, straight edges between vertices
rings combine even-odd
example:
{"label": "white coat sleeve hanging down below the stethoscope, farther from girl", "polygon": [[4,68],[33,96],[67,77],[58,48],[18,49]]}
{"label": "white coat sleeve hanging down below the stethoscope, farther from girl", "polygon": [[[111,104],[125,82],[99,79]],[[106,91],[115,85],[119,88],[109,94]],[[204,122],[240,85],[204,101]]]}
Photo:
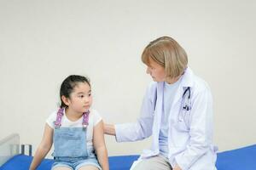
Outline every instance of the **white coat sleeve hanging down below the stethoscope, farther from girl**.
{"label": "white coat sleeve hanging down below the stethoscope, farther from girl", "polygon": [[202,90],[192,99],[189,126],[189,144],[186,150],[175,157],[182,170],[188,170],[201,156],[210,150],[212,144],[212,94]]}

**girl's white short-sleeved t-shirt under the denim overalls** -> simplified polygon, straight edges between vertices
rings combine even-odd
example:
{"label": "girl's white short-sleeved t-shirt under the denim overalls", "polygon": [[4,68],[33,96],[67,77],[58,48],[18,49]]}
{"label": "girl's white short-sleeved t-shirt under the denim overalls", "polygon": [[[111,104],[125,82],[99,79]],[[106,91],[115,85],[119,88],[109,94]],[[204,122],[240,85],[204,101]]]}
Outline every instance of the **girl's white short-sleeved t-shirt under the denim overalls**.
{"label": "girl's white short-sleeved t-shirt under the denim overalls", "polygon": [[[46,120],[46,123],[49,125],[51,128],[55,128],[54,122],[56,121],[57,117],[57,112],[54,111]],[[82,122],[83,122],[83,116],[79,118],[79,120],[73,122],[70,121],[67,116],[66,116],[66,111],[64,110],[64,115],[62,116],[61,119],[61,127],[83,127]],[[86,143],[87,147],[91,147],[92,144],[92,136],[93,136],[93,127],[96,126],[98,122],[102,121],[102,116],[96,111],[96,110],[90,110],[89,114],[89,125],[87,126],[87,131],[86,131]]]}

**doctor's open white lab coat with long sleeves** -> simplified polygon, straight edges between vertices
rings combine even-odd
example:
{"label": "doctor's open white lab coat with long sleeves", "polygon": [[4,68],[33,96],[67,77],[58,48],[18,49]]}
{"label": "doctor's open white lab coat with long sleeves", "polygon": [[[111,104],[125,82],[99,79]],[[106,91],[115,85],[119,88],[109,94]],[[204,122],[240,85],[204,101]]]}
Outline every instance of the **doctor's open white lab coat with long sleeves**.
{"label": "doctor's open white lab coat with long sleeves", "polygon": [[[181,78],[169,116],[169,162],[172,167],[178,164],[182,170],[216,170],[217,147],[212,145],[212,94],[207,83],[189,68]],[[191,110],[184,112],[183,93],[188,87],[191,90]],[[136,141],[153,135],[151,148],[143,150],[138,161],[160,154],[163,92],[164,82],[150,83],[137,122],[115,125],[118,142]]]}

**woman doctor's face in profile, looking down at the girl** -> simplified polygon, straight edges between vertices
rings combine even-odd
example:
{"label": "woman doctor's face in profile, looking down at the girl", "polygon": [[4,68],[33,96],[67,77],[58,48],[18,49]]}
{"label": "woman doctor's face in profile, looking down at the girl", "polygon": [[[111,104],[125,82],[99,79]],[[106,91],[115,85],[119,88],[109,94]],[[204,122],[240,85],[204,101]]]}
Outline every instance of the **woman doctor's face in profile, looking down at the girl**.
{"label": "woman doctor's face in profile, looking down at the girl", "polygon": [[153,59],[148,59],[147,74],[153,78],[154,82],[164,82],[166,78],[165,68],[155,62]]}

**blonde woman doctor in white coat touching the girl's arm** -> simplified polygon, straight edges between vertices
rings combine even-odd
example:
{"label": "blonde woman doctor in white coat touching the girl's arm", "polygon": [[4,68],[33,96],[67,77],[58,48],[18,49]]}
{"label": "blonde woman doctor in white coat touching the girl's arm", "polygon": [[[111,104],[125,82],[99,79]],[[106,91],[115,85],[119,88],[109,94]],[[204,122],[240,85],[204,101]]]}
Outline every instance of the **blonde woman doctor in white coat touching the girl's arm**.
{"label": "blonde woman doctor in white coat touching the girl's arm", "polygon": [[188,67],[184,49],[160,37],[144,49],[142,60],[154,82],[148,85],[137,122],[105,124],[118,142],[146,139],[152,146],[133,170],[216,170],[212,145],[212,94],[207,82]]}

